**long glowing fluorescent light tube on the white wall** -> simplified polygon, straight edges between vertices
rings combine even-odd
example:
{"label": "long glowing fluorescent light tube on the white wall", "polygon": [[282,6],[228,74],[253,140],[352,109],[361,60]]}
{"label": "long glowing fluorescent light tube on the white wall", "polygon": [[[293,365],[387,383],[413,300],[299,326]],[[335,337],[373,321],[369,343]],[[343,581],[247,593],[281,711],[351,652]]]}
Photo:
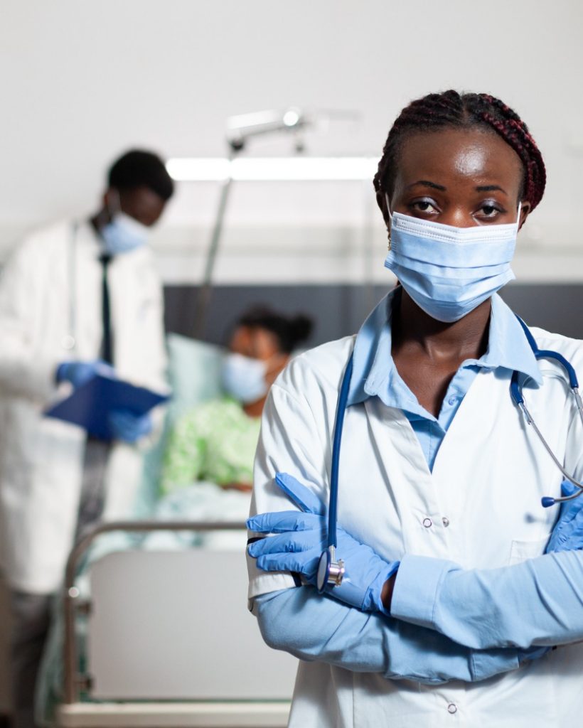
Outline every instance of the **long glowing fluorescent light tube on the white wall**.
{"label": "long glowing fluorescent light tube on the white wall", "polygon": [[237,181],[358,181],[373,178],[377,165],[376,157],[183,157],[166,168],[183,182],[221,181],[229,170]]}

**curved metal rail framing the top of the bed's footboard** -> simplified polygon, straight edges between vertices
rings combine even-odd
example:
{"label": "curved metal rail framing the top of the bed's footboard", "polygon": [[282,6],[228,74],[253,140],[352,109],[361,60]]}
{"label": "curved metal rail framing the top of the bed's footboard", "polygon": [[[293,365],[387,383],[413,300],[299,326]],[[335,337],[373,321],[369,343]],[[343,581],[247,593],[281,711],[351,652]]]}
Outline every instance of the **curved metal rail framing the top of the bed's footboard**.
{"label": "curved metal rail framing the top of the bed's footboard", "polygon": [[63,594],[63,613],[65,617],[65,639],[63,642],[63,703],[71,705],[79,700],[77,681],[77,641],[75,634],[75,609],[79,590],[75,577],[79,561],[92,542],[101,534],[110,531],[239,531],[246,529],[245,523],[233,521],[111,521],[102,523],[82,538],[69,554],[65,569],[65,588]]}

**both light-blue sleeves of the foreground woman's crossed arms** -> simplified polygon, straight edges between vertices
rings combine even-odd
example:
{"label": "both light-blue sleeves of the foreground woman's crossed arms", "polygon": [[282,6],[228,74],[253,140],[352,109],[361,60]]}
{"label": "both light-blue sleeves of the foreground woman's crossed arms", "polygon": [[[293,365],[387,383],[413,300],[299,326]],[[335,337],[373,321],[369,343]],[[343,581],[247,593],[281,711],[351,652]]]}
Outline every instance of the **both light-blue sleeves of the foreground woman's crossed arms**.
{"label": "both light-blue sleeves of the foreground woman's crossed arms", "polygon": [[256,596],[253,612],[268,644],[303,660],[433,684],[483,680],[583,639],[582,603],[583,553],[574,550],[470,571],[405,556],[390,614],[362,612],[309,585]]}

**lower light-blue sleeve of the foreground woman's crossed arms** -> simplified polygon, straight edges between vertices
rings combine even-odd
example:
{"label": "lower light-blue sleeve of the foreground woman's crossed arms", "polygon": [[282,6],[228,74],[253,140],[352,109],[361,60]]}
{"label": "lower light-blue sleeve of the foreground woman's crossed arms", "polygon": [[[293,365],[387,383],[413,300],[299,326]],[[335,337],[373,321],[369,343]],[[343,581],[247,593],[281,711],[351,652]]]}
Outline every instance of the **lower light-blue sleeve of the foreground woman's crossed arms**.
{"label": "lower light-blue sleeve of the foreground woman's crossed arms", "polygon": [[253,614],[274,649],[391,679],[473,682],[515,670],[528,658],[517,649],[469,649],[435,630],[360,612],[309,586],[255,597]]}

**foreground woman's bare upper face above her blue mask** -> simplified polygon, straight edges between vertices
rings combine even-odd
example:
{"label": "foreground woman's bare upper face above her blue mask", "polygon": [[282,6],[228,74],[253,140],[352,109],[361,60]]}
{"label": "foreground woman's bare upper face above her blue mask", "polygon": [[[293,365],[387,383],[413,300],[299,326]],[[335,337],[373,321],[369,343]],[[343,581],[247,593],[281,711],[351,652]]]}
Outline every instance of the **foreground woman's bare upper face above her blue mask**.
{"label": "foreground woman's bare upper face above her blue mask", "polygon": [[[419,133],[402,143],[391,211],[461,228],[513,223],[522,178],[520,158],[494,132]],[[389,226],[386,200],[379,203]],[[529,211],[523,200],[520,224]]]}

